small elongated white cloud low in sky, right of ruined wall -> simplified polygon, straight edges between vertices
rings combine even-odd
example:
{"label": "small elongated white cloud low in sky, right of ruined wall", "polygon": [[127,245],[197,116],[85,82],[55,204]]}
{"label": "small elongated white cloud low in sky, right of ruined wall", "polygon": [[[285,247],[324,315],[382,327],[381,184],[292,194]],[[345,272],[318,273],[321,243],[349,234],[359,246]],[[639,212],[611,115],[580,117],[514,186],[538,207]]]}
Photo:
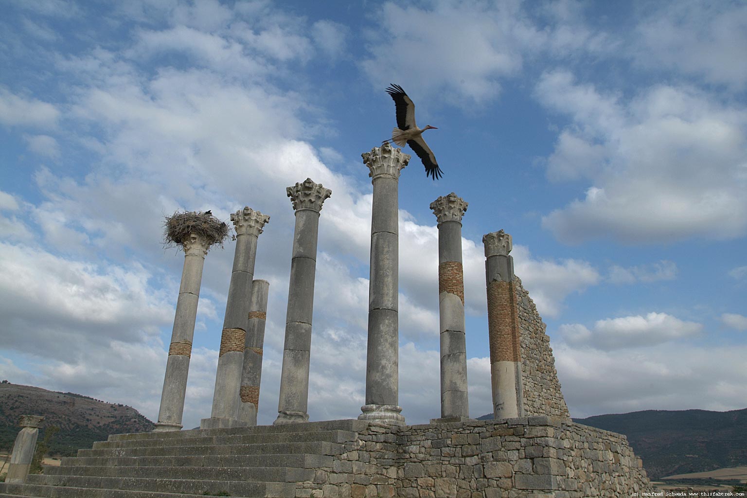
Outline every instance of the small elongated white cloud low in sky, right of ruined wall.
{"label": "small elongated white cloud low in sky, right of ruined wall", "polygon": [[607,318],[597,320],[592,330],[580,324],[564,324],[559,332],[566,343],[575,346],[592,346],[595,349],[613,350],[656,344],[695,337],[703,326],[686,322],[666,313]]}

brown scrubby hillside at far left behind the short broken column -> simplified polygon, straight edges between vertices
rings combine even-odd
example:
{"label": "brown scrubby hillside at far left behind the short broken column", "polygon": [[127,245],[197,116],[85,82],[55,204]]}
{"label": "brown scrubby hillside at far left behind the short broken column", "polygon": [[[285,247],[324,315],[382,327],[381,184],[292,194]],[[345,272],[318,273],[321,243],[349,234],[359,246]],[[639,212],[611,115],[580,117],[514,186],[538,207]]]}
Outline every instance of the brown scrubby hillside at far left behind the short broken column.
{"label": "brown scrubby hillside at far left behind the short broken column", "polygon": [[13,448],[21,415],[45,417],[40,439],[47,426],[60,428],[49,445],[51,455],[75,455],[110,434],[153,430],[153,423],[129,406],[4,381],[0,384],[0,450]]}

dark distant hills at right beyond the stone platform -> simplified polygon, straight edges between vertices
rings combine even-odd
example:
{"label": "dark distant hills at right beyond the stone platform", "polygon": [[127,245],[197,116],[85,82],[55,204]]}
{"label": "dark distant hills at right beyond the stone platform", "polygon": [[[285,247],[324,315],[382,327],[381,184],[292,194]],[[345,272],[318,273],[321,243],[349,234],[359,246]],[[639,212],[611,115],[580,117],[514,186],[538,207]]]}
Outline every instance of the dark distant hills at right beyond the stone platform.
{"label": "dark distant hills at right beyond the stone platform", "polygon": [[747,408],[646,410],[573,420],[626,435],[651,479],[747,465]]}

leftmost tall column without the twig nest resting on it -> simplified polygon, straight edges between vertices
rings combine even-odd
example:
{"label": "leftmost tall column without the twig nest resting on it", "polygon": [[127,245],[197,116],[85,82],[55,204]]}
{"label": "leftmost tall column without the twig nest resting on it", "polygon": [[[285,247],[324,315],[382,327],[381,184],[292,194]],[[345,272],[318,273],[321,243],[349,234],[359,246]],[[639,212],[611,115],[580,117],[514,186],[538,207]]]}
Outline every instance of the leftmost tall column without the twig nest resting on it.
{"label": "leftmost tall column without the twig nest resting on it", "polygon": [[182,284],[179,286],[179,299],[176,301],[176,316],[171,332],[164,390],[161,393],[161,408],[158,411],[158,422],[155,423],[153,432],[182,429],[182,413],[185,409],[187,373],[189,373],[189,358],[192,354],[199,286],[202,282],[202,266],[205,264],[205,255],[208,254],[209,246],[210,242],[204,236],[194,232],[182,241],[185,266],[182,270]]}

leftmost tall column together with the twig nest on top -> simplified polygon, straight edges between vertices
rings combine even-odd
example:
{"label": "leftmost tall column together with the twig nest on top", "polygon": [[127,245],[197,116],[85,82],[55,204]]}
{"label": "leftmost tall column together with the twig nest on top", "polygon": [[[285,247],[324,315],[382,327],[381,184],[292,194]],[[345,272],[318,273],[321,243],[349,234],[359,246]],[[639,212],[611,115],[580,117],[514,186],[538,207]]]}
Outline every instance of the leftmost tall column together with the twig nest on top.
{"label": "leftmost tall column together with the twig nest on top", "polygon": [[[222,224],[225,227],[225,223]],[[180,227],[194,227],[184,237],[180,236]],[[220,240],[225,234],[218,220],[210,214],[182,213],[167,219],[167,240],[176,243],[185,252],[185,264],[182,270],[182,283],[179,285],[179,299],[176,301],[176,315],[171,332],[169,358],[164,376],[164,390],[161,393],[161,408],[158,410],[158,422],[153,432],[179,431],[182,429],[182,414],[185,408],[187,392],[187,374],[192,354],[194,323],[197,316],[199,287],[202,283],[202,267],[208,248],[220,242],[211,233],[206,233],[204,226],[215,228]],[[202,227],[202,228],[201,228]]]}

